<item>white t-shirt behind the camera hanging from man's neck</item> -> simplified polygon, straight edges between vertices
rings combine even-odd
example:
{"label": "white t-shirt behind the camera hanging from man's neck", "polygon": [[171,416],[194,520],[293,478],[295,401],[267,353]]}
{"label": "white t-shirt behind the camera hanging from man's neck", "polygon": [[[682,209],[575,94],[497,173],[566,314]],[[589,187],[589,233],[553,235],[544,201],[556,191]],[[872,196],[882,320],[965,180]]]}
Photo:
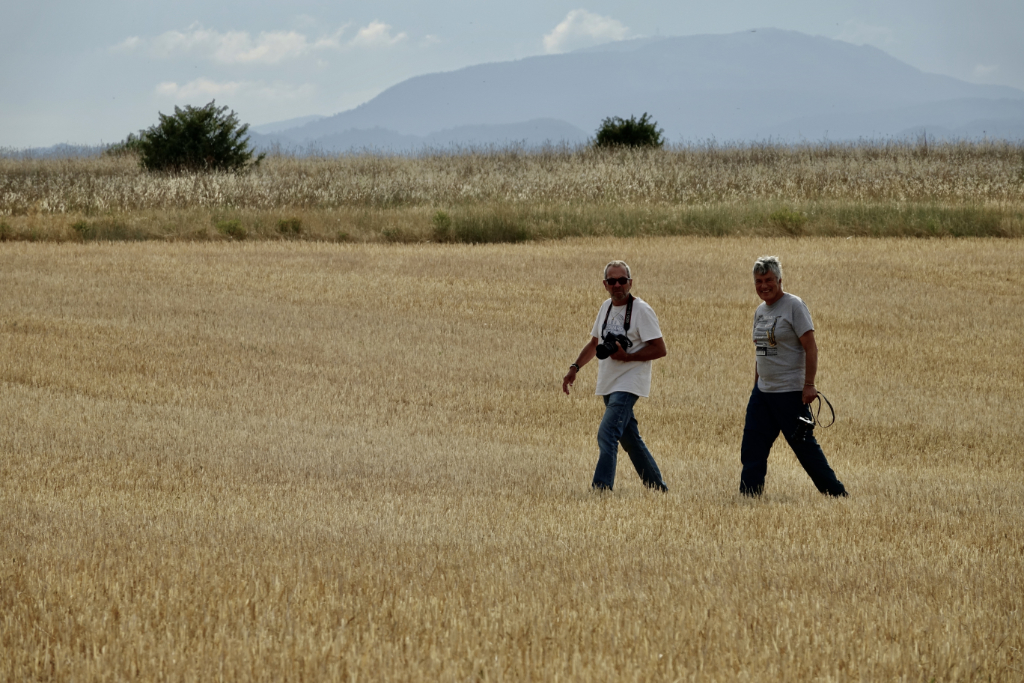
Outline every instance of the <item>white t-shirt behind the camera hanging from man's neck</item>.
{"label": "white t-shirt behind the camera hanging from man's neck", "polygon": [[[611,299],[601,304],[597,311],[597,319],[594,321],[594,329],[591,335],[597,337],[598,342],[604,339],[604,334],[625,334],[633,342],[633,346],[626,349],[627,353],[636,353],[647,342],[652,339],[662,338],[662,328],[657,324],[657,315],[646,301],[633,297],[633,315],[630,317],[630,330],[626,332],[623,325],[626,322],[626,306],[611,306],[611,313],[608,315],[608,325],[602,334],[601,328],[604,326],[604,315],[611,306]],[[598,396],[607,396],[615,391],[628,391],[638,396],[650,395],[650,360],[614,360],[604,358],[597,361],[597,389],[594,393]]]}

